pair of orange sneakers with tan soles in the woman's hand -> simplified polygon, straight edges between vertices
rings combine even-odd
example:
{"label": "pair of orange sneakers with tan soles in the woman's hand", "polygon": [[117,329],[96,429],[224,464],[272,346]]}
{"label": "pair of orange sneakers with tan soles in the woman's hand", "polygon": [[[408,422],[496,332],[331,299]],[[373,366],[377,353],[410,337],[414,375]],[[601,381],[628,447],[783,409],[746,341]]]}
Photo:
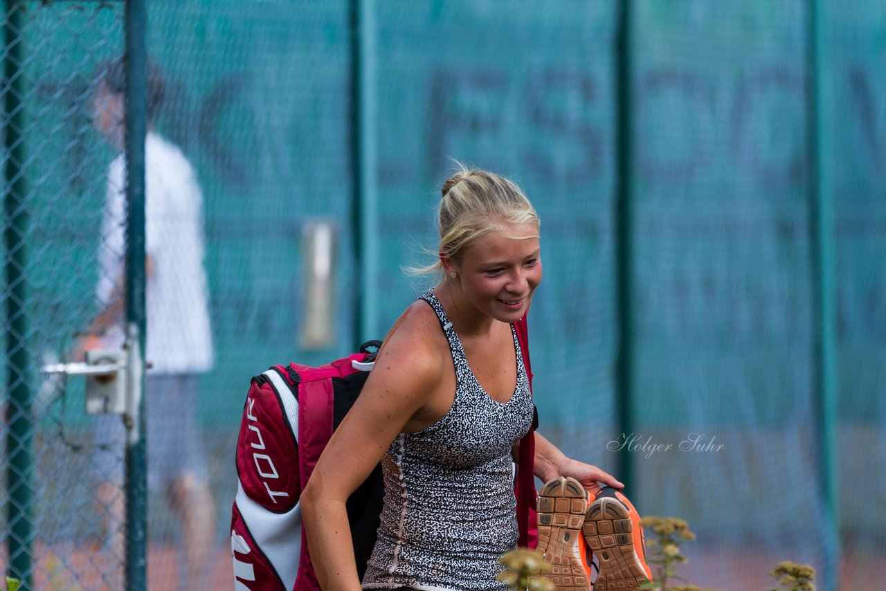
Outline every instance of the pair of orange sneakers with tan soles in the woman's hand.
{"label": "pair of orange sneakers with tan soles in the woman's hand", "polygon": [[621,491],[606,486],[588,498],[575,478],[554,478],[539,491],[538,524],[556,591],[639,589],[652,581],[640,515]]}

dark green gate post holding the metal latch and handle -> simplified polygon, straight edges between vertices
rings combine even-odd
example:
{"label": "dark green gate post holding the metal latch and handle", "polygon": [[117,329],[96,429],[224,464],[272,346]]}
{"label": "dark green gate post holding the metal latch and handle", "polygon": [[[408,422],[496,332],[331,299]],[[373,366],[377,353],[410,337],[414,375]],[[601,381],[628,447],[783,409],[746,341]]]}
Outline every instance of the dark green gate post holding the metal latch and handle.
{"label": "dark green gate post holding the metal latch and handle", "polygon": [[[144,392],[144,140],[147,134],[147,10],[126,4],[126,315],[129,396],[126,443],[127,589],[147,588],[147,462]],[[135,348],[133,348],[135,347]]]}

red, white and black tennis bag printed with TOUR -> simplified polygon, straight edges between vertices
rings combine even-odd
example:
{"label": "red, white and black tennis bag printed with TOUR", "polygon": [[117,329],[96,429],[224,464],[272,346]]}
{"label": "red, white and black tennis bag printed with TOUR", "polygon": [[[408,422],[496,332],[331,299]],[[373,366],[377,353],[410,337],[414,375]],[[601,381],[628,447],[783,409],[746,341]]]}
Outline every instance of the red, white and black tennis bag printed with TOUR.
{"label": "red, white and black tennis bag printed with TOUR", "polygon": [[[299,496],[333,430],[360,394],[380,346],[381,341],[369,341],[360,353],[321,367],[275,365],[253,377],[237,439],[237,497],[231,509],[237,591],[320,588]],[[376,543],[383,495],[377,466],[347,502],[361,577]]]}

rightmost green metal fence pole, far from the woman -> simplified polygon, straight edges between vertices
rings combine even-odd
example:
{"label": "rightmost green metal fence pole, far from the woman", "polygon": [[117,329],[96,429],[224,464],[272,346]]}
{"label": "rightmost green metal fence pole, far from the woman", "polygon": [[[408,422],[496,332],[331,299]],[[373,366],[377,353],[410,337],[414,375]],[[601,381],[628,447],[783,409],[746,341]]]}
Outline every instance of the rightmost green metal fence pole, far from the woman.
{"label": "rightmost green metal fence pole, far from the woman", "polygon": [[826,2],[809,4],[807,30],[809,77],[812,94],[808,121],[809,153],[812,164],[810,183],[810,229],[812,232],[812,292],[814,294],[815,351],[812,383],[815,387],[815,413],[818,427],[819,486],[824,511],[822,546],[824,565],[820,585],[836,589],[840,572],[840,516],[836,486],[836,284],[834,245],[834,191],[828,158],[833,145],[830,136],[832,77],[828,68],[828,19]]}

